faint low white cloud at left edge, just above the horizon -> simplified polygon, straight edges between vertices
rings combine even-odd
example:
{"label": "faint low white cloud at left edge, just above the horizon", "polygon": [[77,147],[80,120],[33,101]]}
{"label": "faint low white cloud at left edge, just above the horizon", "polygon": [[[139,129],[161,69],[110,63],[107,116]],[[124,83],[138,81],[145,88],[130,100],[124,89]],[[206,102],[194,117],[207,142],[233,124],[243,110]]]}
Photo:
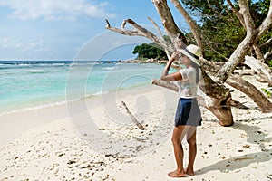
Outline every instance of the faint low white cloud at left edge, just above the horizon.
{"label": "faint low white cloud at left edge, just above the horizon", "polygon": [[5,50],[18,50],[22,52],[47,52],[48,48],[43,41],[33,43],[15,43],[9,38],[0,39],[0,48]]}

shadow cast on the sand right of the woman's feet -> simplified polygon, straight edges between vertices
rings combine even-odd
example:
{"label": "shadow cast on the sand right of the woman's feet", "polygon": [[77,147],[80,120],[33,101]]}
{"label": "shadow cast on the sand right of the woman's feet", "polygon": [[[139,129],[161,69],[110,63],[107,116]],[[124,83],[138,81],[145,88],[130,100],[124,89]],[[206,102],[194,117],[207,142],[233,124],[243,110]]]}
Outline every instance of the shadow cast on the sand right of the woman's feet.
{"label": "shadow cast on the sand right of the woman's feet", "polygon": [[[260,118],[260,119],[271,119],[269,118]],[[260,119],[252,119],[252,120],[240,120],[241,122],[251,122],[257,121]],[[231,157],[228,159],[224,159],[215,164],[212,164],[207,167],[202,167],[196,171],[197,175],[205,174],[212,170],[219,170],[221,172],[235,171],[242,167],[248,167],[248,165],[258,162],[267,162],[272,158],[272,149],[268,149],[265,143],[271,142],[272,138],[267,138],[267,134],[257,126],[248,126],[246,124],[236,122],[233,129],[244,130],[248,135],[248,143],[257,144],[260,149],[259,152],[250,153],[239,157]]]}

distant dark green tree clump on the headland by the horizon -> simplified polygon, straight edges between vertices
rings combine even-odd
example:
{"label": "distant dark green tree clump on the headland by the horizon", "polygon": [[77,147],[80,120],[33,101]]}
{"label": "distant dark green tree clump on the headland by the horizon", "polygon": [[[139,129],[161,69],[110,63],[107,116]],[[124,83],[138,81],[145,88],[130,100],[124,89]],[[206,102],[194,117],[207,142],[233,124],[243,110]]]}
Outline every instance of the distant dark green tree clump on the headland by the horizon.
{"label": "distant dark green tree clump on the headland by the horizon", "polygon": [[137,45],[133,52],[133,54],[138,53],[138,59],[166,59],[167,55],[158,45],[155,43],[142,43],[141,45]]}

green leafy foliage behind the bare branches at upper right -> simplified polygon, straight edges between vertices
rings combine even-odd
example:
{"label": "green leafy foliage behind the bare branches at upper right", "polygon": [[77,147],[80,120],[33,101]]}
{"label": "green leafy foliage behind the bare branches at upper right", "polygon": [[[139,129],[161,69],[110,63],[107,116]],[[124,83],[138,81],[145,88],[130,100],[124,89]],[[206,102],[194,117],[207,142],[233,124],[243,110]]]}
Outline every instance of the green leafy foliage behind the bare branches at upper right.
{"label": "green leafy foliage behind the bare branches at upper right", "polygon": [[[195,16],[198,16],[205,58],[215,62],[228,60],[231,53],[245,38],[246,31],[226,0],[181,0],[181,2]],[[237,1],[231,2],[239,10]],[[256,26],[259,26],[267,16],[269,3],[269,0],[248,1],[250,14]],[[191,34],[188,36],[191,37]],[[272,30],[270,28],[261,38],[259,44],[267,42],[271,36]],[[271,46],[264,46],[261,50],[262,52],[271,51]]]}

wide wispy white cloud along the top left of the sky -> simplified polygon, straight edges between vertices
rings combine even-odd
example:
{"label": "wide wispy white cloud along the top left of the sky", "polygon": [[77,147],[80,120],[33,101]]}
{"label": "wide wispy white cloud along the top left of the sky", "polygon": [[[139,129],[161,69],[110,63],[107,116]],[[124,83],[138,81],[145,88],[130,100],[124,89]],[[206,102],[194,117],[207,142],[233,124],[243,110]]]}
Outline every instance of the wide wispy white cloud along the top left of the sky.
{"label": "wide wispy white cloud along the top left of the sky", "polygon": [[42,18],[49,21],[76,20],[79,16],[114,18],[107,13],[108,3],[93,5],[87,0],[0,0],[0,6],[12,9],[12,17],[22,20]]}

